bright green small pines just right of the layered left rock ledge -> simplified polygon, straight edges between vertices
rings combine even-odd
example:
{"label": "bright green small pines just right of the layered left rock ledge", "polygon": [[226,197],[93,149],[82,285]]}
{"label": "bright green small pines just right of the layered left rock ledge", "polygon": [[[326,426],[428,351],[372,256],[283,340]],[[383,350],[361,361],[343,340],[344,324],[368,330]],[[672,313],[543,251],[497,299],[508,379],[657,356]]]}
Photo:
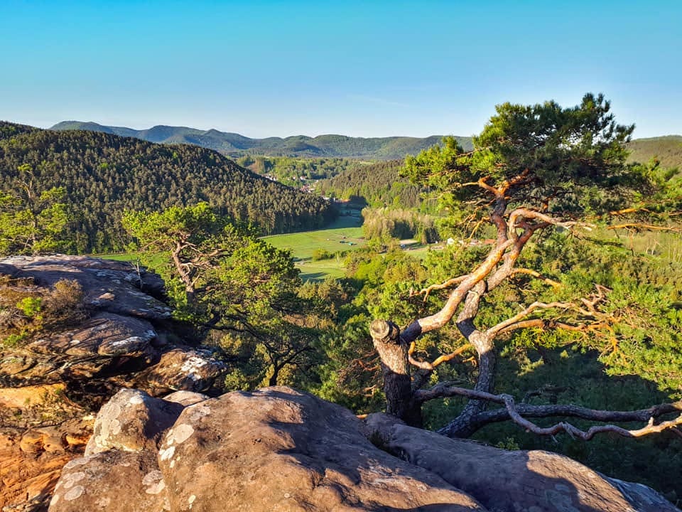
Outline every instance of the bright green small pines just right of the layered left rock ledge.
{"label": "bright green small pines just right of the layered left rock ledge", "polygon": [[128,212],[124,227],[148,253],[175,306],[233,364],[226,385],[305,383],[317,339],[313,312],[298,297],[301,279],[288,252],[216,215],[207,203],[161,213]]}

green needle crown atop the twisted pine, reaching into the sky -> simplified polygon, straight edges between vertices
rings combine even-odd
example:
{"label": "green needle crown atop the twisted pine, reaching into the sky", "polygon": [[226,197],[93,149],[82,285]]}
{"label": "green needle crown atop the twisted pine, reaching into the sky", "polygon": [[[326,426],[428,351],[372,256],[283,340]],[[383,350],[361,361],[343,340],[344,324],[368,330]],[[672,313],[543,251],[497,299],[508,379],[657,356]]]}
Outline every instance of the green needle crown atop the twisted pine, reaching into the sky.
{"label": "green needle crown atop the twisted pine, reaching into the sky", "polygon": [[474,137],[474,151],[464,152],[444,139],[418,156],[408,156],[404,174],[435,188],[445,207],[460,220],[489,200],[487,183],[507,190],[511,206],[523,205],[563,215],[615,210],[641,186],[624,166],[634,126],[616,124],[602,95],[583,97],[576,107],[550,101],[538,105],[497,106],[497,115]]}

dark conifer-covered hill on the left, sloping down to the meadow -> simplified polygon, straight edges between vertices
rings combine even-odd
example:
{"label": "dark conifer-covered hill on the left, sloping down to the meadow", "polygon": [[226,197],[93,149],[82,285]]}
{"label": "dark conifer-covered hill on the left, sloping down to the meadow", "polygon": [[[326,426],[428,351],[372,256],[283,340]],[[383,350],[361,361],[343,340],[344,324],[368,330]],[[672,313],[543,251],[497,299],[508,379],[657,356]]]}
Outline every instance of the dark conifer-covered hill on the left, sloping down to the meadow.
{"label": "dark conifer-covered hill on the left, sloping down to the meadow", "polygon": [[78,252],[123,247],[124,210],[207,201],[266,234],[320,228],[333,215],[323,199],[257,176],[210,149],[0,122],[0,196],[8,194],[6,203],[16,209],[19,196],[38,197],[54,187],[64,188],[67,238]]}

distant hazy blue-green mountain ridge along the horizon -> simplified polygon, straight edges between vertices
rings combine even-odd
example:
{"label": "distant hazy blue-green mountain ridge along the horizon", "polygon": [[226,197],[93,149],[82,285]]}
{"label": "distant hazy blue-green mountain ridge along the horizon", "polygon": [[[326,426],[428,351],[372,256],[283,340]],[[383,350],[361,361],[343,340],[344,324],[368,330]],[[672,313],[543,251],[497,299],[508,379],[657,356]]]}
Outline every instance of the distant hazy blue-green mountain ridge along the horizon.
{"label": "distant hazy blue-green mountain ridge along the horizon", "polygon": [[[149,129],[136,130],[81,121],[63,121],[50,129],[104,132],[164,144],[195,144],[196,146],[215,149],[222,154],[233,157],[258,154],[264,156],[327,156],[393,160],[404,159],[408,154],[418,154],[422,149],[438,144],[443,138],[442,135],[432,135],[420,139],[418,137],[364,138],[327,134],[318,135],[318,137],[295,135],[285,138],[251,139],[237,133],[220,132],[217,129],[200,130],[158,125]],[[471,137],[455,137],[455,139],[465,149],[472,149]]]}

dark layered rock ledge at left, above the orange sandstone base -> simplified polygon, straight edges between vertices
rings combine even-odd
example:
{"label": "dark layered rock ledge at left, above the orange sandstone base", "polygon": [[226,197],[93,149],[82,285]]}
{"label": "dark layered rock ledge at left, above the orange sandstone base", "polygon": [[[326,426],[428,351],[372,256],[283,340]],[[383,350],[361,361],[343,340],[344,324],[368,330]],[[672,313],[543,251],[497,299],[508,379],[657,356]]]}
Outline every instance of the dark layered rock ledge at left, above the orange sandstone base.
{"label": "dark layered rock ledge at left, above the orange sandstone base", "polygon": [[126,262],[64,255],[9,257],[0,260],[0,274],[31,278],[43,288],[76,281],[88,311],[77,325],[2,348],[0,382],[8,387],[104,380],[157,394],[203,391],[224,368],[210,351],[168,343],[163,330],[171,309],[161,302],[156,274]]}

